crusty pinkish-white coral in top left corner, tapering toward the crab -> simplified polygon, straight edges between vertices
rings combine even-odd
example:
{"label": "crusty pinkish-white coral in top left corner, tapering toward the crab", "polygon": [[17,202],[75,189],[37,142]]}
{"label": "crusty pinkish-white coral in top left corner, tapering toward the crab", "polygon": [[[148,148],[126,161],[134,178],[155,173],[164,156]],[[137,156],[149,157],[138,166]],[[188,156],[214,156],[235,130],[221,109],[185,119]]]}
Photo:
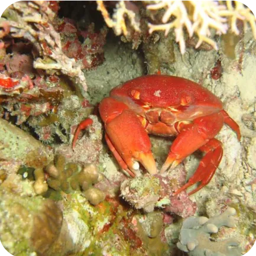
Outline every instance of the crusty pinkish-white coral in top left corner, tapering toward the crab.
{"label": "crusty pinkish-white coral in top left corner, tapering toward the crab", "polygon": [[9,34],[14,38],[31,41],[39,54],[33,63],[35,69],[59,70],[73,77],[86,90],[85,75],[80,65],[62,51],[60,34],[53,27],[55,15],[46,0],[14,2],[2,14],[0,38]]}

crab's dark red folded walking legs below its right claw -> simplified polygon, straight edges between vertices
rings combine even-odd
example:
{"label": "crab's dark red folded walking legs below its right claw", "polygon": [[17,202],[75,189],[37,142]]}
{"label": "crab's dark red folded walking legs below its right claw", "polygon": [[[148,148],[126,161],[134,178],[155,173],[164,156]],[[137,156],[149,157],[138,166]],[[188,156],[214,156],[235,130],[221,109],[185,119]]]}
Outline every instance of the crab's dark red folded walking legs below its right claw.
{"label": "crab's dark red folded walking legs below its right claw", "polygon": [[173,196],[178,195],[180,192],[187,189],[187,187],[200,182],[199,186],[192,190],[189,195],[196,193],[198,190],[202,189],[202,187],[206,186],[215,174],[223,155],[221,142],[213,138],[206,145],[200,147],[200,150],[206,154],[200,161],[195,174],[186,184],[184,184],[184,186],[180,187]]}

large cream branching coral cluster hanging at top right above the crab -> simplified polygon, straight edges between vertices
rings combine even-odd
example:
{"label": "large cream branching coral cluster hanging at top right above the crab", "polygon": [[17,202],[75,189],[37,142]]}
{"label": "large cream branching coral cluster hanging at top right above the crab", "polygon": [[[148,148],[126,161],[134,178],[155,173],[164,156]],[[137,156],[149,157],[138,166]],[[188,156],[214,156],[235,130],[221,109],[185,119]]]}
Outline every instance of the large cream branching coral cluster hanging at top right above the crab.
{"label": "large cream branching coral cluster hanging at top right above the crab", "polygon": [[218,49],[216,42],[210,38],[210,30],[214,29],[217,34],[226,34],[230,22],[232,32],[239,34],[236,26],[237,20],[244,21],[245,28],[249,22],[256,39],[256,18],[251,9],[245,8],[244,4],[238,0],[235,1],[235,7],[232,5],[232,0],[227,0],[226,5],[219,4],[214,0],[160,0],[157,4],[147,5],[149,10],[163,8],[165,9],[161,19],[163,23],[148,24],[149,31],[153,33],[153,31],[162,30],[167,35],[170,29],[174,28],[176,41],[179,42],[182,54],[186,48],[184,28],[186,28],[189,37],[196,34],[199,38],[196,48],[206,42]]}

